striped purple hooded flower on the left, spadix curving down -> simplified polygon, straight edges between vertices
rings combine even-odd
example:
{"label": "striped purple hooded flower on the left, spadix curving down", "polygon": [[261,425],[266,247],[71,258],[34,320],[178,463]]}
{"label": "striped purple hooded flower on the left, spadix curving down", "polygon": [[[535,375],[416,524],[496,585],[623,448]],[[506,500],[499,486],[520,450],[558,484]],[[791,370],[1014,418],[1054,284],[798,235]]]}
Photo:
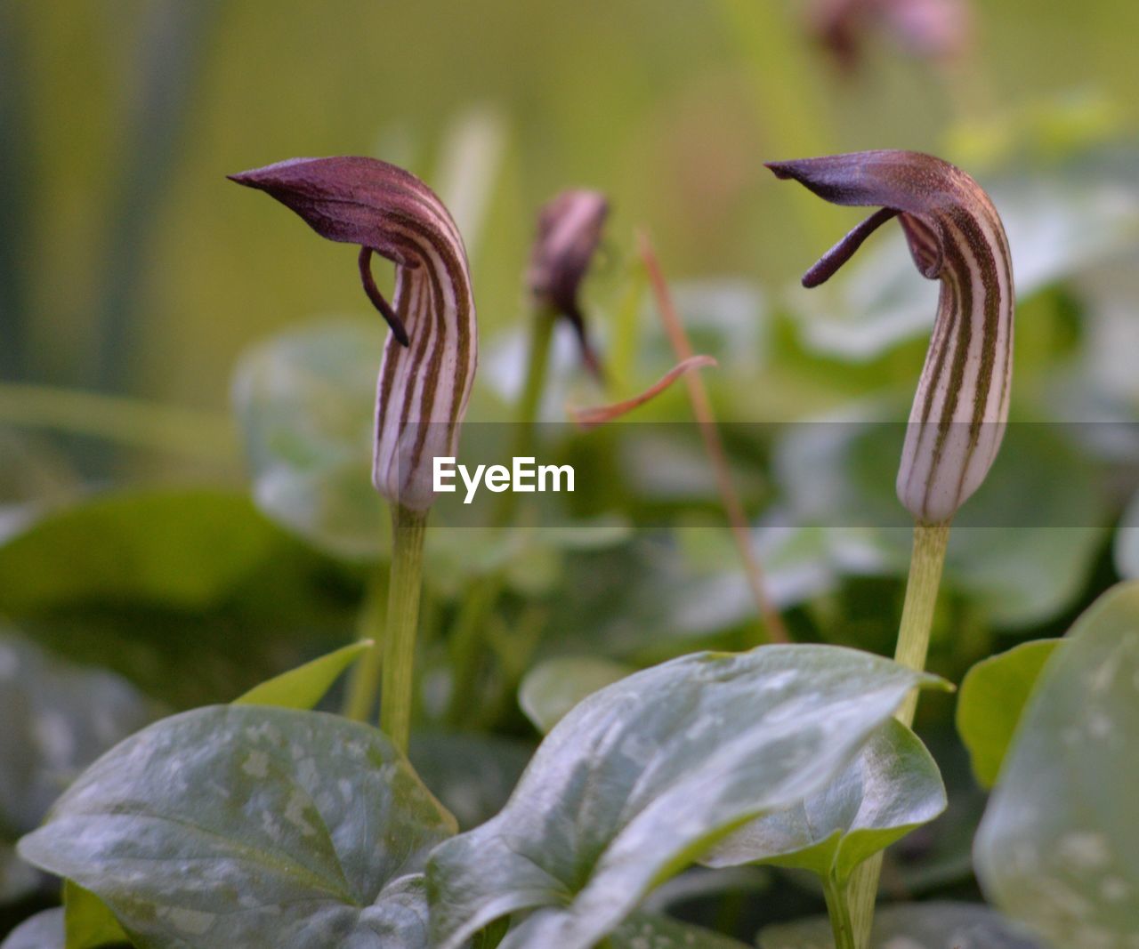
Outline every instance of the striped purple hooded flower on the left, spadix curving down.
{"label": "striped purple hooded flower on the left, spadix curving down", "polygon": [[[321,237],[360,245],[364,291],[392,333],[376,391],[372,481],[426,511],[436,455],[457,454],[477,361],[475,300],[462,238],[443,203],[409,172],[375,158],[294,158],[230,175],[295,211]],[[371,255],[395,264],[388,303]]]}

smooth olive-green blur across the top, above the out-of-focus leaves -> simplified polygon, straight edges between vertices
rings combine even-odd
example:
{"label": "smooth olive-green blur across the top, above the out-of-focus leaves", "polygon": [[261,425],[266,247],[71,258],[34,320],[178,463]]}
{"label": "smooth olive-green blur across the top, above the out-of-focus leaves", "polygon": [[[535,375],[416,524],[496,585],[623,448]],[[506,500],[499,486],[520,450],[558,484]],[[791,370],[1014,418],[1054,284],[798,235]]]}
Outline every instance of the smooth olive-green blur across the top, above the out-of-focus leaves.
{"label": "smooth olive-green blur across the top, above the out-of-focus leaves", "polygon": [[[763,159],[904,147],[983,179],[1136,130],[1130,0],[975,3],[948,64],[870,24],[853,69],[811,7],[6,0],[5,378],[216,410],[249,343],[366,312],[347,248],[224,180],[285,157],[375,155],[444,197],[474,188],[489,335],[518,320],[535,209],[571,184],[612,197],[618,247],[650,228],[674,277],[778,284],[852,215]],[[464,183],[472,155],[490,181]]]}

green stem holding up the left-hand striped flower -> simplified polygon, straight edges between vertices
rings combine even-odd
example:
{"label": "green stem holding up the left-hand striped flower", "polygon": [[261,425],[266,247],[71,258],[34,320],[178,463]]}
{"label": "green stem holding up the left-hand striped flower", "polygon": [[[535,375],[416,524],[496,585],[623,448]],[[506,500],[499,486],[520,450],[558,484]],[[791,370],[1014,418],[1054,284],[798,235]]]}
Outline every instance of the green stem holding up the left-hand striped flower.
{"label": "green stem holding up the left-hand striped flower", "polygon": [[384,630],[379,727],[400,751],[411,734],[412,671],[423,585],[425,511],[392,505],[392,572]]}

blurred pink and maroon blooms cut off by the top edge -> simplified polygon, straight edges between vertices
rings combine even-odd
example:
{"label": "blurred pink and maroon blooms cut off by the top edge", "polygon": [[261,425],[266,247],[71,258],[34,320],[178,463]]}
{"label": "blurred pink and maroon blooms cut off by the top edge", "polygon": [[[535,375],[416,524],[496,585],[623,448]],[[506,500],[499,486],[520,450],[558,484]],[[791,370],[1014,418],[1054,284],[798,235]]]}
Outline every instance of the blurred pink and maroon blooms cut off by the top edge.
{"label": "blurred pink and maroon blooms cut off by the top edge", "polygon": [[854,69],[874,30],[913,56],[954,59],[968,46],[970,18],[967,0],[820,0],[811,9],[810,30],[839,66]]}

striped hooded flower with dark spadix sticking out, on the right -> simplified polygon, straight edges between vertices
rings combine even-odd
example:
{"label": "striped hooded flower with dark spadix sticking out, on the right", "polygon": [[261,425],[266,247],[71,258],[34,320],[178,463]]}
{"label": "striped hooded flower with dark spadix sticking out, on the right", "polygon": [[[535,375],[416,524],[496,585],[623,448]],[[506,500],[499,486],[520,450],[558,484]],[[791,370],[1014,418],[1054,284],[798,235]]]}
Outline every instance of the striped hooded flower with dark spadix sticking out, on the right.
{"label": "striped hooded flower with dark spadix sticking out, on the right", "polygon": [[860,151],[768,167],[833,204],[880,207],[806,272],[804,287],[827,280],[892,217],[921,275],[941,281],[898,496],[920,523],[949,521],[984,481],[1008,421],[1013,263],[997,209],[960,168],[916,151]]}

